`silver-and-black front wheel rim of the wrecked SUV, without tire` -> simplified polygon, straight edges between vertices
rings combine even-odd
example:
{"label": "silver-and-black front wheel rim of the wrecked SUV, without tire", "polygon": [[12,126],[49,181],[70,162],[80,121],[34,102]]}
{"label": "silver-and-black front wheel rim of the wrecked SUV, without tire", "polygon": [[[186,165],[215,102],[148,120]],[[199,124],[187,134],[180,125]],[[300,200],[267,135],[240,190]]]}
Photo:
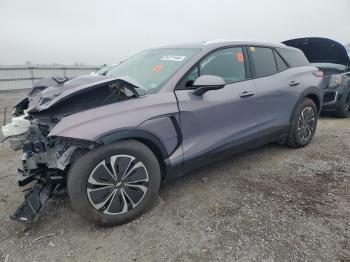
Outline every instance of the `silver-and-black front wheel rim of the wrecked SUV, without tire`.
{"label": "silver-and-black front wheel rim of the wrecked SUV, without tire", "polygon": [[113,155],[101,161],[88,179],[90,204],[109,215],[134,209],[148,191],[148,172],[134,156]]}

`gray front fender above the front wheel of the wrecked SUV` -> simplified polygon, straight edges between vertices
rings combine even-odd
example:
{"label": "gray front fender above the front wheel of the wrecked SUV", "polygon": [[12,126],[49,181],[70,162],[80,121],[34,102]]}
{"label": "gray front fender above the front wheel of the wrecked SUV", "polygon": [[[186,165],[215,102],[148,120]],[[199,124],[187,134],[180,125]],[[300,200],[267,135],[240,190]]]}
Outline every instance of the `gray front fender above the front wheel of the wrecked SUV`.
{"label": "gray front fender above the front wheel of the wrecked SUV", "polygon": [[125,138],[153,141],[164,155],[179,145],[174,93],[160,93],[101,106],[61,119],[49,136],[108,143]]}

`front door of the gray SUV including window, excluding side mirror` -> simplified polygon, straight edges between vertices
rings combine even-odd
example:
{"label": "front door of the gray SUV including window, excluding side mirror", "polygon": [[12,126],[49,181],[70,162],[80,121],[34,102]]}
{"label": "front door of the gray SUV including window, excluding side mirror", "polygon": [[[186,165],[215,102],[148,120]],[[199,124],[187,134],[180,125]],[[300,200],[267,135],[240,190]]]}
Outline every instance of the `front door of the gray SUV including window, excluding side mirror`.
{"label": "front door of the gray SUV including window, excluding side mirror", "polygon": [[[259,113],[254,108],[256,90],[245,52],[243,47],[212,52],[185,76],[175,91],[187,163],[196,166],[206,157],[217,156],[218,152],[246,141],[254,133]],[[200,75],[220,76],[226,85],[195,96],[192,84]]]}

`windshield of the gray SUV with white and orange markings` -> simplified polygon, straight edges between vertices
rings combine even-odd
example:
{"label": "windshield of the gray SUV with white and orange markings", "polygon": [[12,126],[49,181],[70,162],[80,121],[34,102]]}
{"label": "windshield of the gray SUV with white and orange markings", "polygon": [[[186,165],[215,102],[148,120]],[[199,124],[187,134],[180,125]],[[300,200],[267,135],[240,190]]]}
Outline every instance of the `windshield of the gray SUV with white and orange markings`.
{"label": "windshield of the gray SUV with white and orange markings", "polygon": [[130,77],[146,91],[155,93],[199,50],[161,48],[143,51],[110,69],[106,76]]}

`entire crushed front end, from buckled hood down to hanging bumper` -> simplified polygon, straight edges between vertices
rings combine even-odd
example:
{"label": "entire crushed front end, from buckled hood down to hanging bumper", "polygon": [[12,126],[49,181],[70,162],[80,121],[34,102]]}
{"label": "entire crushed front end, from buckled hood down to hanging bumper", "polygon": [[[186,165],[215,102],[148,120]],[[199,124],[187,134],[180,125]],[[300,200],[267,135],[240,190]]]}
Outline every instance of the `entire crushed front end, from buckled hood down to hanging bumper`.
{"label": "entire crushed front end, from buckled hood down to hanging bumper", "polygon": [[64,190],[73,159],[98,146],[92,141],[50,136],[62,118],[139,96],[135,85],[125,79],[91,78],[80,82],[67,79],[66,84],[57,85],[46,80],[44,83],[52,85],[33,87],[29,96],[15,106],[11,122],[2,127],[10,147],[23,151],[18,185],[25,187],[25,200],[11,219],[35,222],[49,201]]}

